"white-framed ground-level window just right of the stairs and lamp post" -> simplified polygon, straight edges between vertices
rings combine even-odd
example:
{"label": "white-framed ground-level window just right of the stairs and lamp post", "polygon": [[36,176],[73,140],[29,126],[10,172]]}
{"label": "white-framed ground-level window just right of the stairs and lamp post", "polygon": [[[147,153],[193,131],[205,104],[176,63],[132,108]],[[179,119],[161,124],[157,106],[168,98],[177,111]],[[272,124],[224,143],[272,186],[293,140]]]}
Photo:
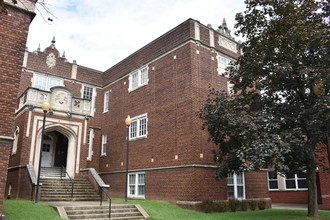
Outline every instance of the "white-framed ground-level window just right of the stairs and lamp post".
{"label": "white-framed ground-level window just right of the stairs and lamp post", "polygon": [[128,195],[130,197],[144,197],[145,195],[144,173],[130,173],[128,175]]}

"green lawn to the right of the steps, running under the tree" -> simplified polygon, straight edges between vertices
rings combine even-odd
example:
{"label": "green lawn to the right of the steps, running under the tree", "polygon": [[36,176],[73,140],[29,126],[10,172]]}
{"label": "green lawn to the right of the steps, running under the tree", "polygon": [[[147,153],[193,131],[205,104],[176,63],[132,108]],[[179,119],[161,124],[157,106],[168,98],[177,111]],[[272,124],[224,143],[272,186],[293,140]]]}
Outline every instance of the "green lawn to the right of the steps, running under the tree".
{"label": "green lawn to the right of the steps, running under the tree", "polygon": [[[113,199],[123,202],[123,199]],[[150,215],[149,220],[307,220],[304,210],[258,210],[246,212],[201,213],[179,208],[175,205],[147,201],[129,200],[129,203],[140,204]],[[330,220],[329,211],[320,211],[321,220]]]}

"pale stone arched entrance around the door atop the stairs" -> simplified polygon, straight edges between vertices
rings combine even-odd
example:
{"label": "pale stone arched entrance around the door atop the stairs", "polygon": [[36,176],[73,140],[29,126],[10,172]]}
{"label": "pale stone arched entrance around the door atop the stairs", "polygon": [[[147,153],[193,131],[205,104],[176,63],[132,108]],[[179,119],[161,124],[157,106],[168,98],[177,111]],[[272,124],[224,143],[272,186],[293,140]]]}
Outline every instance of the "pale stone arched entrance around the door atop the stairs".
{"label": "pale stone arched entrance around the door atop the stairs", "polygon": [[[38,172],[38,159],[40,155],[41,131],[36,143],[34,167]],[[41,167],[65,167],[71,178],[74,177],[76,161],[76,136],[73,131],[62,125],[52,125],[45,128],[44,144],[41,148]],[[47,177],[47,175],[46,175]]]}

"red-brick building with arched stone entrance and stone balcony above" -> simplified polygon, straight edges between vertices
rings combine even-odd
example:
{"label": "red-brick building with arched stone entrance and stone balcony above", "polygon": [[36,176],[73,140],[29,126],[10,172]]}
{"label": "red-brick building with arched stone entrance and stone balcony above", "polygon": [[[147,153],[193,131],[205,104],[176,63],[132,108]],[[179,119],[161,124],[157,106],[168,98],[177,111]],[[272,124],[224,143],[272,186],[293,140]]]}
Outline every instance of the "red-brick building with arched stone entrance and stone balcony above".
{"label": "red-brick building with arched stone entrance and stone balcony above", "polygon": [[196,116],[209,87],[228,91],[223,72],[240,55],[225,22],[215,30],[188,19],[104,72],[68,62],[55,43],[25,52],[7,195],[33,196],[46,100],[42,167],[64,166],[74,178],[94,168],[110,195],[123,197],[130,115],[129,197],[180,204],[269,199],[266,171],[215,180],[217,147]]}

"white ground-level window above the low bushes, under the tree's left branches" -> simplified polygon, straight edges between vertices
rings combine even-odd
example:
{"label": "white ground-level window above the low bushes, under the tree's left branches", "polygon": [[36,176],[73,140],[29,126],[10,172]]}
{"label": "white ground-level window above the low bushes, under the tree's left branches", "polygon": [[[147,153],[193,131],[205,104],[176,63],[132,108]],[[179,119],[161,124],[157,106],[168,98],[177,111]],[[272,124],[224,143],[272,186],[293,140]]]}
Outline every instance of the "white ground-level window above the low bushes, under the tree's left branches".
{"label": "white ground-level window above the low bushes, under the tree's left branches", "polygon": [[231,173],[227,178],[227,193],[228,198],[244,199],[244,174],[243,173]]}

